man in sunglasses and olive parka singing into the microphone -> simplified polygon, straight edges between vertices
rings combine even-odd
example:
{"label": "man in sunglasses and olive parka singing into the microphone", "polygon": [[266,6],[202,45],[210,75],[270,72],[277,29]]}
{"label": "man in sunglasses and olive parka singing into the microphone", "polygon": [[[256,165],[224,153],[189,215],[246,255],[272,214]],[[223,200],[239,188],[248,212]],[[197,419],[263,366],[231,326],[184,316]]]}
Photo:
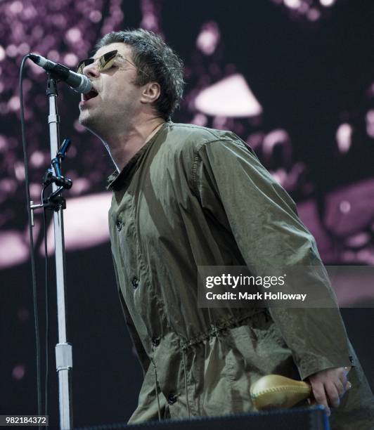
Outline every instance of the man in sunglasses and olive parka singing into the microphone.
{"label": "man in sunglasses and olive parka singing into the microphone", "polygon": [[79,122],[115,164],[112,255],[145,372],[129,422],[248,412],[251,384],[282,374],[311,384],[333,429],[373,429],[337,308],[198,308],[198,266],[321,267],[294,202],[234,133],[171,122],[183,64],[160,37],[113,32],[94,52]]}

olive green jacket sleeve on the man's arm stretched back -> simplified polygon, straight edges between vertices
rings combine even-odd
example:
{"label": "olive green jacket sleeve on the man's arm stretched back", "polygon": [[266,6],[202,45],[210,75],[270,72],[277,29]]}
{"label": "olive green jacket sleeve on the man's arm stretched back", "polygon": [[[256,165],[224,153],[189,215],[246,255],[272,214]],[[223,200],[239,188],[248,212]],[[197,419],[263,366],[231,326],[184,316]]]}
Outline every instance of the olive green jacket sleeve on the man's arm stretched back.
{"label": "olive green jacket sleeve on the man's arm stretched back", "polygon": [[200,145],[193,169],[200,204],[221,223],[226,220],[247,266],[309,267],[309,284],[317,282],[333,300],[330,308],[269,307],[301,378],[352,365],[347,333],[316,242],[288,193],[235,135]]}

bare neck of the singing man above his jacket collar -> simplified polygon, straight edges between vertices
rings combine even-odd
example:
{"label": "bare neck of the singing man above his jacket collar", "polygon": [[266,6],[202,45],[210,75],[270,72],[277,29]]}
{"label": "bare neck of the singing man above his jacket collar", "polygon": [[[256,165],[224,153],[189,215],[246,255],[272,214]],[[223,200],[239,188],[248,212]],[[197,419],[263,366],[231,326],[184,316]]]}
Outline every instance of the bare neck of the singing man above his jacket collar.
{"label": "bare neck of the singing man above his jacket collar", "polygon": [[164,123],[165,119],[157,117],[142,119],[133,124],[127,124],[125,129],[114,131],[107,138],[101,138],[117,171],[121,171],[126,166]]}

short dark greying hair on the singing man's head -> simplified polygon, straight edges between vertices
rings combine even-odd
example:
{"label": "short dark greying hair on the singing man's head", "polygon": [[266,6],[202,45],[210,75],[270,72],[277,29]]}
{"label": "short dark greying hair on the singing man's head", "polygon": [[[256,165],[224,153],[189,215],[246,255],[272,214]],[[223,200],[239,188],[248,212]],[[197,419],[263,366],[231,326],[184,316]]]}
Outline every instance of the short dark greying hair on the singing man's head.
{"label": "short dark greying hair on the singing man's head", "polygon": [[161,92],[155,100],[155,110],[168,121],[183,96],[183,61],[158,34],[141,28],[105,34],[94,50],[96,52],[103,46],[117,42],[131,46],[134,64],[138,69],[136,85],[148,82],[160,84]]}

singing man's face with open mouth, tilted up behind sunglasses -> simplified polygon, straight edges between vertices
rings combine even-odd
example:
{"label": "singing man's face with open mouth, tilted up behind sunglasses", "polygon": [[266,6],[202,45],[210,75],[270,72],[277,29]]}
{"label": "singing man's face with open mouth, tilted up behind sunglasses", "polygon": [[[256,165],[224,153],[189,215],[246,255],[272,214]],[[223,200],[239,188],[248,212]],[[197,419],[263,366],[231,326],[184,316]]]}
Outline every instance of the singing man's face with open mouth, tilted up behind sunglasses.
{"label": "singing man's face with open mouth, tilted up behind sunglasses", "polygon": [[[112,67],[98,71],[98,62],[84,67],[83,73],[91,80],[97,95],[82,95],[79,103],[79,122],[98,136],[116,133],[126,127],[141,109],[142,87],[134,84],[136,67],[131,48],[122,43],[110,44],[100,48],[93,59],[117,49],[117,56]],[[125,60],[127,58],[129,61]]]}

